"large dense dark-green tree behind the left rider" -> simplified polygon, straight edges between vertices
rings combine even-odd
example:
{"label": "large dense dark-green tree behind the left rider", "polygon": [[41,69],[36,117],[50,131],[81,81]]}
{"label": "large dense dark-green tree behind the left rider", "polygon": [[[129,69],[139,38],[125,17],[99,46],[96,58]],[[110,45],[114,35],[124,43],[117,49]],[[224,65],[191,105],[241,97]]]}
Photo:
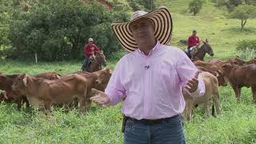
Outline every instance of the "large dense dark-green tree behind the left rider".
{"label": "large dense dark-green tree behind the left rider", "polygon": [[98,3],[83,5],[74,0],[44,0],[27,11],[17,10],[10,22],[9,38],[14,51],[9,58],[53,61],[82,58],[82,48],[92,37],[109,55],[120,49],[111,22],[127,21],[122,11],[106,10]]}

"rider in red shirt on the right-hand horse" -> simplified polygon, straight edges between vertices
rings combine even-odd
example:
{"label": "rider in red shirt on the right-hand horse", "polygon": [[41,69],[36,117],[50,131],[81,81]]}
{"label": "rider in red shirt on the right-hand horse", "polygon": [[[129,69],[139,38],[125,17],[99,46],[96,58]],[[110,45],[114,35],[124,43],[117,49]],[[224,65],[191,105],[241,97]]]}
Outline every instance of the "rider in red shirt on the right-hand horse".
{"label": "rider in red shirt on the right-hand horse", "polygon": [[191,59],[192,54],[191,51],[194,49],[195,46],[200,45],[200,39],[197,36],[197,30],[192,31],[192,35],[187,40],[187,51],[188,51],[188,56]]}

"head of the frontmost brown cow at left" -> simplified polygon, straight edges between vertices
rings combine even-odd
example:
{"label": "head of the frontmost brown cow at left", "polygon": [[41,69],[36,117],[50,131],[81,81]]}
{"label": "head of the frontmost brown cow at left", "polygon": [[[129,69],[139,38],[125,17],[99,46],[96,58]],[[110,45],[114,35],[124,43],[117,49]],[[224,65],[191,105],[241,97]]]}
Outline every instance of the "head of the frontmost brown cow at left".
{"label": "head of the frontmost brown cow at left", "polygon": [[25,91],[28,84],[28,77],[27,74],[19,75],[18,78],[15,79],[12,89],[20,93]]}

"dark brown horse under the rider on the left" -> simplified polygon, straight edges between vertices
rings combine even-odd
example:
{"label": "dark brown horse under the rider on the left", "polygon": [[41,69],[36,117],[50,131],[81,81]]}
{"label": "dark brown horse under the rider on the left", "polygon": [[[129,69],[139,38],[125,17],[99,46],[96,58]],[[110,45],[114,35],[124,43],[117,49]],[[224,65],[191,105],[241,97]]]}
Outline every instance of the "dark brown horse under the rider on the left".
{"label": "dark brown horse under the rider on the left", "polygon": [[92,73],[94,71],[102,70],[102,65],[106,66],[106,56],[103,54],[103,51],[95,52],[95,55],[90,57],[89,70],[86,70],[83,64],[82,71],[86,70]]}

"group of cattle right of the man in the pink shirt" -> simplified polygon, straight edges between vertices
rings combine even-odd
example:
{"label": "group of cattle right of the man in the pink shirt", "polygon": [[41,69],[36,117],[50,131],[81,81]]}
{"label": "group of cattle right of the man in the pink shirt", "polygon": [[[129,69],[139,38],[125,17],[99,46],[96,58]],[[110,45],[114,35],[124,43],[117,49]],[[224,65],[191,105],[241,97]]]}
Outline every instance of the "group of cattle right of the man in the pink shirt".
{"label": "group of cattle right of the man in the pink shirt", "polygon": [[246,62],[236,56],[227,61],[212,59],[208,62],[194,61],[194,65],[201,70],[199,74],[203,78],[206,86],[206,93],[202,97],[192,98],[182,90],[186,100],[184,117],[191,119],[192,108],[202,104],[205,109],[206,117],[210,116],[210,101],[213,100],[213,108],[216,106],[217,114],[221,114],[220,94],[218,86],[230,86],[233,88],[237,101],[240,102],[241,89],[243,86],[251,87],[253,102],[256,102],[256,58]]}

